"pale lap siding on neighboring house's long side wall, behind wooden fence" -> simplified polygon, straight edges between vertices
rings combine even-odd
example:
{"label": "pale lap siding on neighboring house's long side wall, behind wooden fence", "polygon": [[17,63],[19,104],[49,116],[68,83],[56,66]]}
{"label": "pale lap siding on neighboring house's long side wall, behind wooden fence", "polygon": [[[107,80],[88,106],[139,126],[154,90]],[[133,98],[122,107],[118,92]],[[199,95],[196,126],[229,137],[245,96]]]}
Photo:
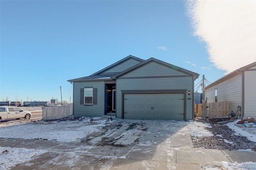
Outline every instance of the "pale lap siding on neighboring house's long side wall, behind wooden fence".
{"label": "pale lap siding on neighboring house's long side wall, behind wooden fence", "polygon": [[229,110],[237,111],[238,105],[242,106],[242,75],[238,74],[230,79],[218,83],[205,90],[207,103],[215,102],[215,89],[218,90],[218,102],[229,101]]}

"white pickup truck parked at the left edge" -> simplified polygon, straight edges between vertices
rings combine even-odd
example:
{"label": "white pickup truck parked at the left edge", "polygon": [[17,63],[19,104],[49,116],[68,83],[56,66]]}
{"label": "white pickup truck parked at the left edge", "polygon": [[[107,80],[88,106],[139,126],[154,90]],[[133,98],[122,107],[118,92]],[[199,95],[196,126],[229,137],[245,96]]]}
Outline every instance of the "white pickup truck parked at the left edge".
{"label": "white pickup truck parked at the left edge", "polygon": [[1,119],[30,119],[31,116],[32,115],[30,111],[23,111],[18,107],[0,107],[0,121]]}

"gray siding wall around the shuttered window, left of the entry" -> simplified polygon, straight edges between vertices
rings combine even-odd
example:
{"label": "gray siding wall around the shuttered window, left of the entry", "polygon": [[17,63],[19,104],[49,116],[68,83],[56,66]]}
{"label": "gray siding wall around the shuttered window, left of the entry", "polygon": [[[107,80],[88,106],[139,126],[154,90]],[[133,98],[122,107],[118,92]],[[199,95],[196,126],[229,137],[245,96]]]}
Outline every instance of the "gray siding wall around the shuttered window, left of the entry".
{"label": "gray siding wall around the shuttered window, left of the entry", "polygon": [[[98,88],[97,105],[80,105],[80,88]],[[74,83],[74,117],[98,117],[104,115],[104,81]]]}

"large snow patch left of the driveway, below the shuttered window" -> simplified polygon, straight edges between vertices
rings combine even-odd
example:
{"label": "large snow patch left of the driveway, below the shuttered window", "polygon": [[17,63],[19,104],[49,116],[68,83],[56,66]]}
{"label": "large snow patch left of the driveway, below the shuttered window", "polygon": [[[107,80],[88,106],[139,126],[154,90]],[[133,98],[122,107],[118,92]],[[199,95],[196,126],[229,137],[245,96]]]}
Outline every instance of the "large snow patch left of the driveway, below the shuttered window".
{"label": "large snow patch left of the driveway, below the shuttered window", "polygon": [[[26,138],[26,139],[48,139],[60,142],[74,142],[84,138],[91,132],[99,132],[100,127],[104,127],[106,120],[95,118],[93,123],[86,121],[64,121],[64,122],[28,122],[1,124],[0,137],[4,138]],[[26,129],[26,134],[19,129]]]}

